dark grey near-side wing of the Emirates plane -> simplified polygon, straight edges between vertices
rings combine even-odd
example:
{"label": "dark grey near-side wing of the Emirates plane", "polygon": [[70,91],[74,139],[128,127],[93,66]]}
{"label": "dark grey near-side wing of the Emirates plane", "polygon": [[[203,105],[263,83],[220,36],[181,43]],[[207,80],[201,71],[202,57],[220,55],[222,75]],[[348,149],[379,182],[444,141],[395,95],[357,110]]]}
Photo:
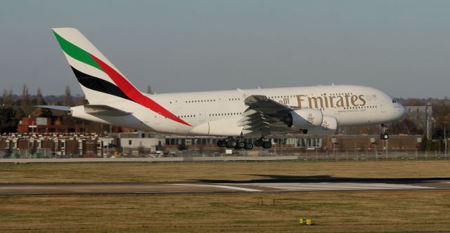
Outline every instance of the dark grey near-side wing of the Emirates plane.
{"label": "dark grey near-side wing of the Emirates plane", "polygon": [[267,98],[265,95],[250,95],[244,100],[248,106],[238,126],[243,126],[243,134],[270,131],[271,127],[285,126],[283,118],[294,109],[288,105]]}

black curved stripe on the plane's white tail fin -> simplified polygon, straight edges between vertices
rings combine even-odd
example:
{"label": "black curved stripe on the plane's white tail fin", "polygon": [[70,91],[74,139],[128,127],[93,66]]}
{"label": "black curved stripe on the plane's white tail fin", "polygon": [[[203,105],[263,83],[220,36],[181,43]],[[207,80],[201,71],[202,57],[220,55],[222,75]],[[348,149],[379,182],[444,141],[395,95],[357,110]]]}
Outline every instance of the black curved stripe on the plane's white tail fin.
{"label": "black curved stripe on the plane's white tail fin", "polygon": [[83,72],[80,72],[78,69],[75,69],[74,67],[72,67],[72,70],[75,76],[77,76],[79,84],[82,84],[84,87],[94,91],[99,91],[102,93],[107,93],[110,95],[115,95],[120,98],[131,100],[130,98],[128,98],[127,95],[125,95],[125,93],[123,93],[120,90],[120,88],[118,88],[114,84],[111,84],[109,81],[105,81],[103,79],[91,76],[89,74],[84,74]]}

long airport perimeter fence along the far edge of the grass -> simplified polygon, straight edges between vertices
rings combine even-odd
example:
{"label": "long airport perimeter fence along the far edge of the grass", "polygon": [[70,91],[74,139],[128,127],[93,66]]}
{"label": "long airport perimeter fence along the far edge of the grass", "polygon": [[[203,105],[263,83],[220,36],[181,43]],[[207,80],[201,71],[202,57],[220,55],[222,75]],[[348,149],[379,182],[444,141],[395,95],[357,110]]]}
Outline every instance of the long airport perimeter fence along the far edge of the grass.
{"label": "long airport perimeter fence along the far edge of the grass", "polygon": [[[137,148],[136,148],[137,149]],[[111,150],[110,153],[89,154],[89,155],[60,155],[41,149],[39,153],[30,154],[26,150],[17,150],[13,154],[0,157],[3,159],[84,159],[84,158],[124,158],[139,159],[150,158],[155,161],[164,161],[162,158],[181,158],[179,161],[228,161],[229,158],[240,158],[238,160],[300,160],[300,161],[345,161],[345,160],[446,160],[450,159],[450,154],[446,152],[418,152],[411,150],[320,150],[319,148],[299,149],[299,148],[272,148],[272,149],[187,149],[173,150],[166,152],[150,152],[150,150],[140,150],[141,153],[122,154],[120,148]],[[204,158],[204,159],[193,159]],[[259,159],[258,159],[259,158]],[[287,159],[288,158],[288,159]],[[120,160],[117,160],[120,161]],[[178,160],[176,160],[178,161]]]}

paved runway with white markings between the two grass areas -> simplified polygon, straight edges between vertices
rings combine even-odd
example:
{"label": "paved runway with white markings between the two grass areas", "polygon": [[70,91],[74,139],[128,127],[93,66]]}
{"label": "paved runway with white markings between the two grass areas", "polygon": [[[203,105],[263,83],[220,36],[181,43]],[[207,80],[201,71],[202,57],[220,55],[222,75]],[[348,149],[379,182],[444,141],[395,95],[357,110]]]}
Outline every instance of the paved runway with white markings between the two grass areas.
{"label": "paved runway with white markings between the two grass areas", "polygon": [[[375,180],[378,181],[378,180]],[[389,182],[186,182],[186,183],[34,183],[1,184],[0,195],[167,194],[226,192],[319,192],[450,189],[449,179]]]}

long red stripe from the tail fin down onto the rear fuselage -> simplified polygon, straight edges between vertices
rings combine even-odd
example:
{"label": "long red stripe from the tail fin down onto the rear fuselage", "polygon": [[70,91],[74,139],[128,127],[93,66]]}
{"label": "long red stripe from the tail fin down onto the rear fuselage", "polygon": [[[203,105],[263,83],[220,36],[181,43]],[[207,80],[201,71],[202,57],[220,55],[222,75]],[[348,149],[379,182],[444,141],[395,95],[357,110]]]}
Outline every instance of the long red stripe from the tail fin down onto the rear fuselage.
{"label": "long red stripe from the tail fin down onto the rear fuselage", "polygon": [[113,79],[115,85],[119,87],[120,90],[125,93],[125,95],[127,95],[131,100],[138,103],[139,105],[142,105],[143,107],[151,109],[153,112],[172,119],[173,121],[185,124],[186,126],[191,126],[190,124],[186,123],[186,121],[183,121],[182,119],[176,117],[174,114],[172,114],[172,112],[169,112],[169,110],[159,105],[158,102],[155,102],[152,99],[148,98],[146,95],[143,95],[132,84],[130,84],[130,82],[127,81],[124,76],[120,75],[117,71],[115,71],[115,69],[107,65],[105,62],[96,58],[96,56],[92,54],[91,57],[96,60],[101,69],[103,69],[103,71],[108,74],[111,79]]}

